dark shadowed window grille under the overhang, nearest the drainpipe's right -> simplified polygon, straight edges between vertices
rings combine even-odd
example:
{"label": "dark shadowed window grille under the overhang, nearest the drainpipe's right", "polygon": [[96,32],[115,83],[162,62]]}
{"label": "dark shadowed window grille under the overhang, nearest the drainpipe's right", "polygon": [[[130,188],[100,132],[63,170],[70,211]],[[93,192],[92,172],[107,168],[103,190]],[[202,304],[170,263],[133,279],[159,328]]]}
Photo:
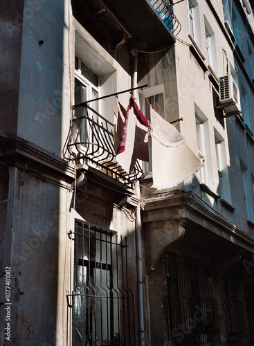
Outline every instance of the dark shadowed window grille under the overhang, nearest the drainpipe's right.
{"label": "dark shadowed window grille under the overhang, nearest the drainpipe's right", "polygon": [[169,345],[221,345],[217,302],[205,264],[179,253],[165,253],[165,318]]}

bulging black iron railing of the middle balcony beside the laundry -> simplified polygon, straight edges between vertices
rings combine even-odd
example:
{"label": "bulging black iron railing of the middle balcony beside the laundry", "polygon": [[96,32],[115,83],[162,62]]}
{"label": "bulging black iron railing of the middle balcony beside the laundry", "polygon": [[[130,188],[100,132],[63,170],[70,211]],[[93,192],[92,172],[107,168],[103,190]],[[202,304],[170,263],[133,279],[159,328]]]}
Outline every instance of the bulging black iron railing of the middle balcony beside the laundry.
{"label": "bulging black iron railing of the middle balcony beside the laundry", "polygon": [[143,179],[145,174],[138,161],[130,174],[116,162],[114,124],[88,104],[74,106],[73,109],[75,116],[67,144],[73,160],[80,162],[83,160],[85,164],[96,167],[122,183],[131,184],[138,179]]}

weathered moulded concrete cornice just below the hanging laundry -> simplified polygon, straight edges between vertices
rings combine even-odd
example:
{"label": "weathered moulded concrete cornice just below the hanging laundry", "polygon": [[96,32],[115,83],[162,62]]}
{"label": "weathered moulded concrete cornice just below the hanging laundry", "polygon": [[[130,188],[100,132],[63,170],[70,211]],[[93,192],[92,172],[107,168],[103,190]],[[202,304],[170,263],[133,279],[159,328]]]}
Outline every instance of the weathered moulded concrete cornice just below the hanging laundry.
{"label": "weathered moulded concrete cornice just below the hanging laundry", "polygon": [[144,224],[156,221],[184,219],[193,221],[213,233],[228,239],[248,251],[254,251],[254,239],[239,230],[223,216],[212,210],[201,199],[183,191],[168,192],[149,196],[145,199]]}

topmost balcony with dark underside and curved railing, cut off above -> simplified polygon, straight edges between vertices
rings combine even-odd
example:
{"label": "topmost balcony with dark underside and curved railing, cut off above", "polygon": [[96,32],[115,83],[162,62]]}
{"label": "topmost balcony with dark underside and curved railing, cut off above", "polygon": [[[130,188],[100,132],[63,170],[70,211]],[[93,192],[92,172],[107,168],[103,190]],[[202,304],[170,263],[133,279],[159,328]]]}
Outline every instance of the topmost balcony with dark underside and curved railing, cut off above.
{"label": "topmost balcony with dark underside and curved railing, cut off above", "polygon": [[129,50],[156,51],[174,44],[181,30],[170,0],[72,0],[72,3],[74,17],[108,50],[116,48],[125,37]]}

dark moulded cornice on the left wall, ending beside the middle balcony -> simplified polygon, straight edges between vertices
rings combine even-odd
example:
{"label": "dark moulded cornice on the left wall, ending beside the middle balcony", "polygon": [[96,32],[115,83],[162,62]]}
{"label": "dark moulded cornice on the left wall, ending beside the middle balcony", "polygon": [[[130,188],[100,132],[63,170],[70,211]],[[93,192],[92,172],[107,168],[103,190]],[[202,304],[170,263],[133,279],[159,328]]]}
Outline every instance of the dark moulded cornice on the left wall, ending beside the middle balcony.
{"label": "dark moulded cornice on the left wall, ending beside the middle balcony", "polygon": [[11,163],[21,161],[37,168],[42,167],[44,172],[57,175],[67,182],[75,179],[74,165],[18,136],[1,138],[0,159]]}

